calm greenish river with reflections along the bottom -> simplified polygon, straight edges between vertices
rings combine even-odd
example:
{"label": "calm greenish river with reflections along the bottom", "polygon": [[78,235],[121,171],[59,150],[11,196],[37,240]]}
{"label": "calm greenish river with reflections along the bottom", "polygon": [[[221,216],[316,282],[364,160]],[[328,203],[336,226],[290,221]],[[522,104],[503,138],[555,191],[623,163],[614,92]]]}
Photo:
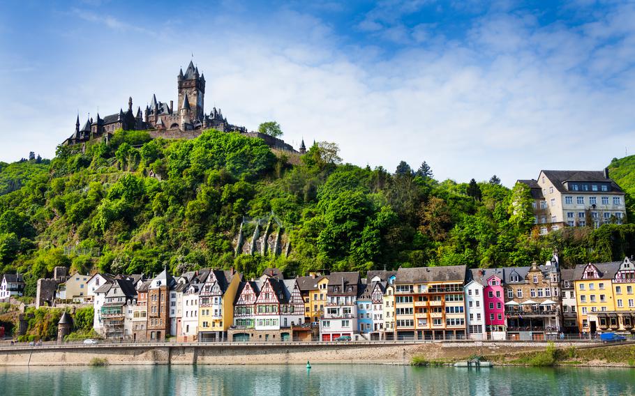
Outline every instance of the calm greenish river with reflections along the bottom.
{"label": "calm greenish river with reflections along the bottom", "polygon": [[619,368],[387,365],[0,367],[0,395],[635,395]]}

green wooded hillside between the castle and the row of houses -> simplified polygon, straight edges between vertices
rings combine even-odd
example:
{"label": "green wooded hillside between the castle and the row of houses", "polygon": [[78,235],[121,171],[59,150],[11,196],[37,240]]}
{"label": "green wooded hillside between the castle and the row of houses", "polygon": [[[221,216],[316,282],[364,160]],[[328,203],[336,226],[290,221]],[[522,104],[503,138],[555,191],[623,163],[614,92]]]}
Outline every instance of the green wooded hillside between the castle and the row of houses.
{"label": "green wooded hillside between the castle and the row of houses", "polygon": [[[24,273],[34,294],[36,279],[57,265],[147,274],[164,264],[175,273],[234,266],[247,275],[278,266],[292,275],[520,266],[554,248],[565,265],[635,254],[633,224],[532,234],[521,185],[436,181],[425,163],[387,172],[340,162],[335,144],[315,144],[290,165],[260,139],[214,130],[188,141],[119,131],[85,153],[60,146],[50,165],[27,161],[28,181],[0,195],[0,273]],[[289,256],[234,257],[243,216],[271,211],[284,223]]]}

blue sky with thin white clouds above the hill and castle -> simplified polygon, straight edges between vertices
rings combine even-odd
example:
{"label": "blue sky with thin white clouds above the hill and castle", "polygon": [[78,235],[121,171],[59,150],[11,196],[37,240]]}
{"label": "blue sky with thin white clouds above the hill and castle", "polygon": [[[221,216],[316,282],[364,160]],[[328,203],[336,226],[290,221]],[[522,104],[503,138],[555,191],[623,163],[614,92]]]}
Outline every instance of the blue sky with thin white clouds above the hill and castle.
{"label": "blue sky with thin white clouds above the hill and castle", "polygon": [[0,160],[80,121],[176,100],[345,162],[505,185],[635,153],[635,3],[0,0]]}

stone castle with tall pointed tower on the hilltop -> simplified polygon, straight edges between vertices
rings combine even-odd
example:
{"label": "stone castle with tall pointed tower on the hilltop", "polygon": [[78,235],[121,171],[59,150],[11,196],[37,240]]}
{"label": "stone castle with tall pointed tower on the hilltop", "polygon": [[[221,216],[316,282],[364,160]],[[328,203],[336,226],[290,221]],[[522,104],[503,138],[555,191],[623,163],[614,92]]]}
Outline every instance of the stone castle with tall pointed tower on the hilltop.
{"label": "stone castle with tall pointed tower on the hilltop", "polygon": [[199,73],[198,68],[190,61],[185,73],[179,70],[177,76],[178,102],[174,111],[174,101],[160,102],[156,95],[152,95],[149,105],[146,105],[142,114],[141,107],[133,112],[133,98],[128,98],[128,109],[119,109],[118,114],[112,114],[101,118],[97,113],[96,119],[89,117],[80,128],[80,116],[77,116],[75,132],[62,144],[84,144],[91,139],[102,137],[110,139],[115,130],[148,130],[151,137],[163,137],[166,139],[193,139],[203,130],[214,128],[221,132],[239,132],[249,137],[259,137],[271,148],[293,153],[304,153],[306,147],[302,142],[299,151],[282,139],[264,135],[259,132],[248,132],[243,126],[232,125],[227,122],[221,109],[213,107],[209,114],[204,112],[205,77]]}

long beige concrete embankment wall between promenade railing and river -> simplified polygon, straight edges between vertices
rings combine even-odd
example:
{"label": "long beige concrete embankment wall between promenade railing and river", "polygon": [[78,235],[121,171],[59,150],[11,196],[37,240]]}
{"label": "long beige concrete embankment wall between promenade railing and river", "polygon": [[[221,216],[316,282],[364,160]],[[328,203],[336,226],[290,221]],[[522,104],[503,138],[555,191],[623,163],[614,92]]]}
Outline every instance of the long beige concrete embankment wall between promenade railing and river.
{"label": "long beige concrete embankment wall between promenade railing and river", "polygon": [[[586,346],[565,342],[558,347]],[[191,364],[408,364],[413,356],[462,359],[544,349],[536,342],[427,342],[398,344],[129,344],[95,346],[0,347],[0,366],[88,365],[102,358],[110,365]]]}

